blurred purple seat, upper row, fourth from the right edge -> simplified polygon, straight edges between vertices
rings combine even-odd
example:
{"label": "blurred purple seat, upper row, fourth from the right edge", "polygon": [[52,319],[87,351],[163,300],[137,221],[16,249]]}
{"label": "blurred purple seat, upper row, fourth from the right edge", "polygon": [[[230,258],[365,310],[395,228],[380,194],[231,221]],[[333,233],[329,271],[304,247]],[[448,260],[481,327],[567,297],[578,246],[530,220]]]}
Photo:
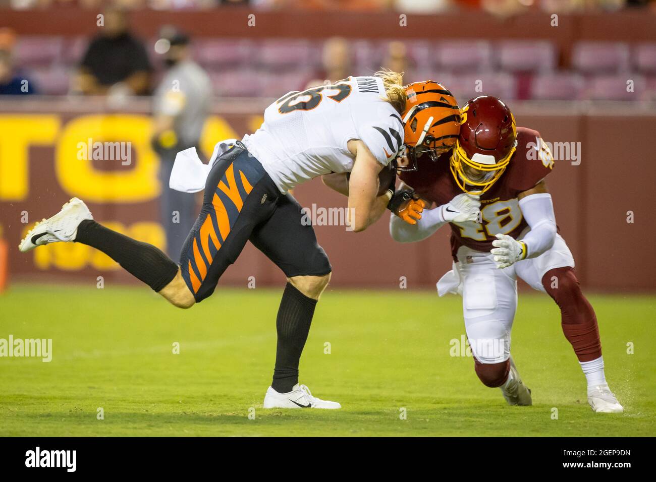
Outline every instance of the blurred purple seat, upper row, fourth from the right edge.
{"label": "blurred purple seat, upper row, fourth from the right edge", "polygon": [[433,56],[434,65],[453,72],[488,71],[492,65],[492,49],[486,41],[441,42]]}

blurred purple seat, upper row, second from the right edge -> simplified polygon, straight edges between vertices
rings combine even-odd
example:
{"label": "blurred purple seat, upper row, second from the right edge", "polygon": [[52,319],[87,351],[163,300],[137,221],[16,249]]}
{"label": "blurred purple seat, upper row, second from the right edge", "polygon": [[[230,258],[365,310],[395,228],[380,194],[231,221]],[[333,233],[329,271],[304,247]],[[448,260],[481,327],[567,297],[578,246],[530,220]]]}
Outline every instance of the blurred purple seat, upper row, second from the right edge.
{"label": "blurred purple seat, upper row, second from the right edge", "polygon": [[572,66],[581,73],[618,73],[629,68],[625,43],[579,42],[574,46]]}

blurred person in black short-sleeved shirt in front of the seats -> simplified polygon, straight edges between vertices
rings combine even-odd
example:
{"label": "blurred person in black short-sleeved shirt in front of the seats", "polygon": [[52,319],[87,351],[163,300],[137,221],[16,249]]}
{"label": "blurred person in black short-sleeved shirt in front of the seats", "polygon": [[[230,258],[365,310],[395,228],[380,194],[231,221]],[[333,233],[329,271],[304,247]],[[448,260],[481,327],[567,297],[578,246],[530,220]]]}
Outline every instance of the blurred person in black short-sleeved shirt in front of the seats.
{"label": "blurred person in black short-sleeved shirt in front of the seats", "polygon": [[144,43],[128,30],[125,10],[111,7],[82,59],[74,90],[91,95],[147,94],[151,70]]}

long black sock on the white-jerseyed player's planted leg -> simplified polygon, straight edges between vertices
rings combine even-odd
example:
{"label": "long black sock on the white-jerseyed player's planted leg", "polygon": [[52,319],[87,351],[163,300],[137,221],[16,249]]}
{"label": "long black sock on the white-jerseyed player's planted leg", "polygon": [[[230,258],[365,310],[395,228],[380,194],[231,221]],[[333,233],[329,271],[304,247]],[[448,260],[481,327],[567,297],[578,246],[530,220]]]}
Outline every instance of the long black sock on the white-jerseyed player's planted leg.
{"label": "long black sock on the white-jerseyed player's planted leg", "polygon": [[287,283],[276,319],[278,343],[271,386],[278,393],[291,392],[298,383],[298,361],[308,339],[316,305],[317,300],[308,298]]}

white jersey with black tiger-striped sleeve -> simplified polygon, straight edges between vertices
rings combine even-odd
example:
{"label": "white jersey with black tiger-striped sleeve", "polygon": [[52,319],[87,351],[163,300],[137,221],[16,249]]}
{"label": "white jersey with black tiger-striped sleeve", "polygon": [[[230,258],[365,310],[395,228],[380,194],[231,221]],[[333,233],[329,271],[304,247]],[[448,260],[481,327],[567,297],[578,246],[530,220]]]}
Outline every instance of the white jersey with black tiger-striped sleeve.
{"label": "white jersey with black tiger-striped sleeve", "polygon": [[262,127],[242,142],[282,193],[323,174],[350,172],[351,139],[388,165],[403,146],[403,123],[384,97],[379,77],[289,92],[266,108]]}

